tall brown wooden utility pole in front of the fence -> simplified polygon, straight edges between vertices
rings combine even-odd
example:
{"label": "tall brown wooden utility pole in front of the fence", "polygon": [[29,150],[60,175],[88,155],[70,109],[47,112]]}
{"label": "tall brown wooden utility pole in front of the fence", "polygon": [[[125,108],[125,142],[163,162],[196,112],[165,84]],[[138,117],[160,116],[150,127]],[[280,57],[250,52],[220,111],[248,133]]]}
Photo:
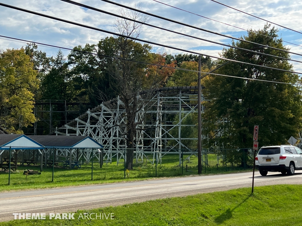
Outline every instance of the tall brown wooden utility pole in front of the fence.
{"label": "tall brown wooden utility pole in front of the fence", "polygon": [[201,55],[198,57],[198,174],[201,174]]}

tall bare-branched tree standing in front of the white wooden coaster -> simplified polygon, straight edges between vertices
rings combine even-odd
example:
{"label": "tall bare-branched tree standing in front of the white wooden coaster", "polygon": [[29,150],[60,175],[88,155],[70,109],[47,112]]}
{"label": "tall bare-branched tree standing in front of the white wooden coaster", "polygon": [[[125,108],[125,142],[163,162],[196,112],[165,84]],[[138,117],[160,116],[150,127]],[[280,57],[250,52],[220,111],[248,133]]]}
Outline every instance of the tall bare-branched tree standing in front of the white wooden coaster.
{"label": "tall bare-branched tree standing in front of the white wooden coaster", "polygon": [[[140,4],[135,6],[136,8],[141,8]],[[125,9],[120,9],[119,13],[128,18],[135,20],[140,20],[143,22],[148,22],[149,17],[140,14],[136,11],[130,11]],[[115,30],[123,35],[130,37],[138,37],[141,33],[142,24],[135,23],[133,21],[125,19],[117,19],[113,24]],[[114,56],[131,59],[137,61],[148,61],[150,55],[151,46],[147,44],[140,44],[134,42],[133,39],[115,37],[115,52]],[[143,123],[143,119],[137,120],[138,112],[143,111],[146,105],[146,98],[154,89],[158,88],[159,81],[158,77],[152,77],[152,81],[148,81],[148,91],[144,93],[144,98],[140,98],[139,94],[143,87],[146,88],[147,78],[147,68],[145,65],[137,64],[135,62],[129,62],[124,60],[112,60],[107,67],[108,72],[114,79],[115,87],[118,87],[116,92],[120,97],[120,100],[124,103],[126,121],[124,125],[125,133],[121,136],[125,137],[125,142],[127,146],[126,153],[126,167],[128,169],[133,169],[133,158],[134,158],[134,148],[135,140],[137,135],[137,130],[142,129],[140,125]],[[109,102],[108,102],[109,103]]]}

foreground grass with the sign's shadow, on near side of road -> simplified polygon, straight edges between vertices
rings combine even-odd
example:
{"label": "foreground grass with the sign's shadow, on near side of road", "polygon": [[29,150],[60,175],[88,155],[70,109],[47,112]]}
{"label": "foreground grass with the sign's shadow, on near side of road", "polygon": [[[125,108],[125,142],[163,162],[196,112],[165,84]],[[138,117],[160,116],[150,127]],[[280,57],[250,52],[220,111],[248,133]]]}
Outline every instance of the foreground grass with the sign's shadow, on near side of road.
{"label": "foreground grass with the sign's shadow, on near side of road", "polygon": [[[302,225],[302,185],[273,185],[158,199],[77,211],[75,220],[14,220],[0,226],[29,225]],[[114,213],[114,219],[78,219],[84,213]],[[93,215],[92,215],[93,216]]]}

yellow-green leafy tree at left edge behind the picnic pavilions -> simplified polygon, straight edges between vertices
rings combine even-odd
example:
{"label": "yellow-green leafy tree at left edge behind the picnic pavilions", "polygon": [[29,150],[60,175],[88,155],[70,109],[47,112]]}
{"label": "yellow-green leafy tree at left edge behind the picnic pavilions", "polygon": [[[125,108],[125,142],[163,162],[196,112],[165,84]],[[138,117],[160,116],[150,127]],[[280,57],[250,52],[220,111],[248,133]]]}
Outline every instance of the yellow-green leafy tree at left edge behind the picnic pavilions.
{"label": "yellow-green leafy tree at left edge behind the picnic pavilions", "polygon": [[38,83],[37,71],[23,48],[0,52],[0,124],[8,132],[23,133],[22,127],[36,121],[32,109]]}

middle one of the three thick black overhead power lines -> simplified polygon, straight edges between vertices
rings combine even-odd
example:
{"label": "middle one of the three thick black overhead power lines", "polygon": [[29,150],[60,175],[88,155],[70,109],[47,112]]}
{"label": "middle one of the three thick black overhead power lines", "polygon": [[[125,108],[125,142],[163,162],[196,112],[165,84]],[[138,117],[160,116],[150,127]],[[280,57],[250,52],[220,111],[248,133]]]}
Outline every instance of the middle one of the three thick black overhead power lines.
{"label": "middle one of the three thick black overhead power lines", "polygon": [[125,20],[130,20],[130,21],[133,21],[135,23],[144,24],[144,25],[147,25],[149,27],[154,27],[154,28],[169,31],[169,32],[172,32],[172,33],[175,33],[175,34],[187,36],[187,37],[190,37],[190,38],[199,39],[199,40],[206,41],[206,42],[211,42],[211,43],[214,43],[214,44],[217,44],[217,45],[227,46],[227,47],[234,48],[234,49],[241,49],[241,50],[244,50],[244,51],[253,52],[257,55],[266,55],[266,56],[271,56],[271,57],[275,57],[275,58],[279,58],[279,59],[283,59],[283,60],[290,60],[290,61],[296,61],[296,62],[302,63],[302,61],[298,61],[298,60],[288,59],[288,58],[284,58],[284,57],[280,57],[280,56],[275,56],[275,55],[271,55],[271,54],[266,54],[266,53],[262,53],[262,52],[253,51],[253,50],[250,50],[250,49],[240,48],[240,47],[237,47],[237,46],[227,45],[227,44],[220,43],[220,42],[214,42],[214,41],[211,41],[211,40],[208,40],[208,39],[202,39],[202,38],[199,38],[199,37],[196,37],[196,36],[187,35],[187,34],[184,34],[184,33],[177,32],[177,31],[173,31],[173,30],[169,30],[169,29],[166,29],[166,28],[158,27],[158,26],[155,26],[155,25],[152,25],[152,24],[147,24],[147,23],[141,22],[139,20],[134,20],[134,19],[129,18],[129,17],[124,17],[124,16],[121,16],[121,15],[118,15],[118,14],[110,13],[110,12],[107,12],[107,11],[104,11],[104,10],[101,10],[101,9],[98,9],[98,8],[95,8],[95,7],[92,7],[92,6],[89,6],[89,5],[85,5],[85,4],[82,4],[82,3],[79,3],[79,2],[74,2],[74,1],[71,1],[71,0],[60,0],[60,1],[70,3],[70,4],[73,4],[73,5],[77,5],[77,6],[80,6],[80,7],[83,7],[83,8],[88,8],[88,9],[98,11],[98,12],[101,12],[101,13],[104,13],[104,14],[108,14],[108,15],[111,15],[111,16],[114,16],[114,17],[119,17],[119,18],[122,18],[122,19],[125,19]]}

